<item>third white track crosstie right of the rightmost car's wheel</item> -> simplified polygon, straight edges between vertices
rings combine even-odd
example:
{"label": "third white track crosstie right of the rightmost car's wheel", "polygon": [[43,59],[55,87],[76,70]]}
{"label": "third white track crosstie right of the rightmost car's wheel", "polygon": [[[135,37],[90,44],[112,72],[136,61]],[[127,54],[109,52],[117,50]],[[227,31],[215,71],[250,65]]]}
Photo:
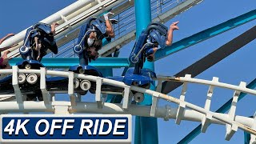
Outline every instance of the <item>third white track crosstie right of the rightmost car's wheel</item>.
{"label": "third white track crosstie right of the rightmost car's wheel", "polygon": [[[218,78],[214,77],[213,82],[218,82]],[[210,110],[210,102],[211,102],[211,98],[212,98],[213,94],[214,94],[214,86],[210,86],[209,90],[207,92],[207,99],[206,99],[206,104],[205,104],[206,110]],[[212,114],[206,114],[202,118],[202,128],[201,128],[202,133],[206,132],[208,126],[210,125],[210,121],[212,118],[213,118]]]}

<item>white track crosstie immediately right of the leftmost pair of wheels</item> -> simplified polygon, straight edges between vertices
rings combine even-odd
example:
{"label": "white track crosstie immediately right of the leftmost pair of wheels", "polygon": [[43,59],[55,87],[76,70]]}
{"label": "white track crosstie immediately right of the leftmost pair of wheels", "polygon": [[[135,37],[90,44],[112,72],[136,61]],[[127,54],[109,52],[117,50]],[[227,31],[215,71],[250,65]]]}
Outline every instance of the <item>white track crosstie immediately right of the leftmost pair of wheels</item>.
{"label": "white track crosstie immediately right of the leftmost pair of wheels", "polygon": [[50,104],[50,94],[46,90],[46,68],[40,68],[40,89],[42,91],[42,98],[45,104]]}

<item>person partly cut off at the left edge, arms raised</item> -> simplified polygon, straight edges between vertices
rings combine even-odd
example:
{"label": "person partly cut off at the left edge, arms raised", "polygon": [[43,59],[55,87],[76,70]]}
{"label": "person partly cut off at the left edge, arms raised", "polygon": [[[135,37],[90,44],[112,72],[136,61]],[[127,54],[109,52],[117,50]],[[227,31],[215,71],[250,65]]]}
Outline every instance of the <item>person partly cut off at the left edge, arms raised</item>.
{"label": "person partly cut off at the left edge, arms raised", "polygon": [[[11,36],[14,36],[14,34],[7,34],[4,38],[1,38],[0,39],[0,45],[2,44],[3,41],[6,40],[6,38],[9,38]],[[14,46],[17,46],[17,45],[14,45]],[[14,46],[6,46],[6,47],[3,47],[3,48],[0,48],[0,54],[2,51],[5,51],[2,55],[2,57],[0,58],[0,68],[1,69],[10,69],[11,66],[9,64],[9,58],[7,57],[7,54],[10,53],[10,48],[14,47]]]}

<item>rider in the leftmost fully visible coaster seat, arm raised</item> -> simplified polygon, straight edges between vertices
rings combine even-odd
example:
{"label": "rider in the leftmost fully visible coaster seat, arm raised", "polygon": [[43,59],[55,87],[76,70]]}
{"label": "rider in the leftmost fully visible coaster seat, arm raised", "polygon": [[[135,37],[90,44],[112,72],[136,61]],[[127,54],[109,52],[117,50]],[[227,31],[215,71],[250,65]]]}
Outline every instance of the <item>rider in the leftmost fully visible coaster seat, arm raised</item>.
{"label": "rider in the leftmost fully visible coaster seat, arm raised", "polygon": [[[56,34],[55,32],[55,28],[58,26],[58,23],[57,22],[53,22],[51,25],[50,25],[50,34],[49,34],[49,40],[50,41],[54,41],[54,35]],[[37,57],[37,60],[40,59],[40,54],[41,54],[41,47],[42,47],[42,43],[40,41],[38,41],[38,37],[34,37],[34,42],[35,42],[35,49],[34,50],[37,50],[38,51],[38,57]]]}

